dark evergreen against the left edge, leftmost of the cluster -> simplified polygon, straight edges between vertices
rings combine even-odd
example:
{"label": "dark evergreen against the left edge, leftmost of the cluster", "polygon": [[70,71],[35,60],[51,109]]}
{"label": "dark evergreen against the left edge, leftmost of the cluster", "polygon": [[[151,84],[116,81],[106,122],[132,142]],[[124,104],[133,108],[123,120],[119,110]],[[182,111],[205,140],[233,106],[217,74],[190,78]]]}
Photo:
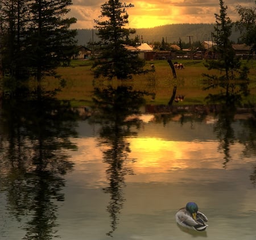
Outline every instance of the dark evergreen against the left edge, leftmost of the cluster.
{"label": "dark evergreen against the left edge, leftmost of the cluster", "polygon": [[[27,6],[25,0],[1,1],[1,55],[3,73],[9,81],[26,78],[24,68],[24,28],[26,27]],[[10,84],[10,83],[9,83]]]}

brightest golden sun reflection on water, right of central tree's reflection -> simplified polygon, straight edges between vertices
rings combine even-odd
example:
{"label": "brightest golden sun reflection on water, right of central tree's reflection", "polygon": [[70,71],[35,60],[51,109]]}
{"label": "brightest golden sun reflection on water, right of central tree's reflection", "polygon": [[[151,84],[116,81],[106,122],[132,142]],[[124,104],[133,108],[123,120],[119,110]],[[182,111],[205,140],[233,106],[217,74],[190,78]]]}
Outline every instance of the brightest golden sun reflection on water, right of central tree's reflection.
{"label": "brightest golden sun reflection on water, right of central tree's reflection", "polygon": [[[146,137],[130,139],[131,156],[138,172],[168,172],[180,169],[221,168],[217,142],[167,141]],[[205,151],[207,149],[207,151]]]}

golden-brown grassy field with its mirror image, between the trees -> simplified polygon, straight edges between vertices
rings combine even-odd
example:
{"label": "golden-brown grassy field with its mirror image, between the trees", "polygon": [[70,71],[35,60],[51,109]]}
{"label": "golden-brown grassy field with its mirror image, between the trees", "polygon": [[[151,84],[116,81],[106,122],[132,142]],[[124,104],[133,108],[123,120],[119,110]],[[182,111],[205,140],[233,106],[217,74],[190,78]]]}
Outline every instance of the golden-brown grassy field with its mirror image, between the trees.
{"label": "golden-brown grassy field with its mirror image, between the trees", "polygon": [[[172,71],[168,62],[165,60],[147,61],[145,68],[150,69],[151,64],[155,65],[155,73],[136,75],[131,81],[134,89],[147,90],[155,92],[155,100],[151,96],[146,96],[146,102],[149,104],[167,104],[172,95],[174,86],[177,86],[176,95],[184,95],[185,99],[179,104],[204,104],[205,97],[209,93],[219,92],[204,91],[203,73],[214,73],[204,66],[204,60],[181,60],[185,69],[176,69],[177,78],[172,76]],[[250,68],[250,92],[251,95],[244,99],[245,103],[256,102],[256,61],[246,62]],[[67,82],[64,89],[57,94],[61,100],[71,100],[73,106],[90,105],[93,90],[92,61],[73,60],[70,67],[61,67],[57,73]],[[217,73],[217,72],[216,72]],[[45,80],[46,89],[53,89],[58,86],[55,79],[47,78]],[[113,83],[114,84],[114,83]]]}

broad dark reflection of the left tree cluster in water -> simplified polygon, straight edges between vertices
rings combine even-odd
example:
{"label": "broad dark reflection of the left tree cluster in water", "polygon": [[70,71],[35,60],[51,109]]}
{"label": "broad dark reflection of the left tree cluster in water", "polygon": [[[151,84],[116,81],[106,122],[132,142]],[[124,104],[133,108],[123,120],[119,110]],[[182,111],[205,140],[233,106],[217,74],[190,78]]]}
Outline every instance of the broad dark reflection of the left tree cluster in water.
{"label": "broad dark reflection of the left tree cluster in water", "polygon": [[63,201],[63,175],[73,163],[64,149],[76,149],[77,115],[53,99],[4,104],[0,155],[1,191],[16,220],[28,219],[23,239],[52,239],[57,203]]}

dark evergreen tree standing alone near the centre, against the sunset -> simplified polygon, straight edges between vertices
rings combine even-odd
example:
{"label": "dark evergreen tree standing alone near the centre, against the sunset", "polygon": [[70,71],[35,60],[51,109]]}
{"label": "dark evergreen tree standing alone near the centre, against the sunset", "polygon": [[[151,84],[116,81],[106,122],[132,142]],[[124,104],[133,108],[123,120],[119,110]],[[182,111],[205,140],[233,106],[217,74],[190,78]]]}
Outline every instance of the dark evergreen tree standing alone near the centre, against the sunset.
{"label": "dark evergreen tree standing alone near the centre, against the sunset", "polygon": [[125,28],[128,17],[119,0],[109,0],[101,5],[100,20],[94,20],[101,39],[101,57],[93,66],[96,78],[130,79],[132,74],[143,73],[144,61],[124,46],[130,43],[130,30]]}

